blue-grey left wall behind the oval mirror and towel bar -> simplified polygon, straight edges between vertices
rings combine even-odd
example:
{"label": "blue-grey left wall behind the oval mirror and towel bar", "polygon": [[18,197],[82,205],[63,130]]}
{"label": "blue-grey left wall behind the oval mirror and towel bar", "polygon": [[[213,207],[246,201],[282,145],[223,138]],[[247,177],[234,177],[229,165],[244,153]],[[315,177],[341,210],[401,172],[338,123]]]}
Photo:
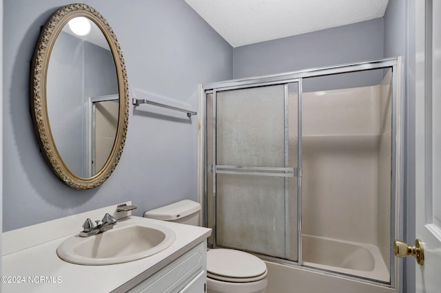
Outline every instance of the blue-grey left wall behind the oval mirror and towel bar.
{"label": "blue-grey left wall behind the oval mirror and towel bar", "polygon": [[[198,83],[232,78],[232,47],[181,0],[85,0],[114,30],[133,89],[198,107]],[[3,230],[132,200],[134,215],[197,200],[198,116],[130,105],[119,165],[100,187],[76,191],[39,151],[30,116],[30,62],[41,25],[65,0],[4,0]]]}

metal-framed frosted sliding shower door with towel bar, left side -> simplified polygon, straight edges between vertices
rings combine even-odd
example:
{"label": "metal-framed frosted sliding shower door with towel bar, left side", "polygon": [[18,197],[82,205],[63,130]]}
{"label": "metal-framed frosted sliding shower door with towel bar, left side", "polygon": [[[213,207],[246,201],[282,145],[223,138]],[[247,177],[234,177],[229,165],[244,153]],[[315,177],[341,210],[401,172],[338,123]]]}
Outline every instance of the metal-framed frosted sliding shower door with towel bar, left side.
{"label": "metal-framed frosted sliding shower door with towel bar, left side", "polygon": [[298,259],[298,83],[207,95],[214,246]]}

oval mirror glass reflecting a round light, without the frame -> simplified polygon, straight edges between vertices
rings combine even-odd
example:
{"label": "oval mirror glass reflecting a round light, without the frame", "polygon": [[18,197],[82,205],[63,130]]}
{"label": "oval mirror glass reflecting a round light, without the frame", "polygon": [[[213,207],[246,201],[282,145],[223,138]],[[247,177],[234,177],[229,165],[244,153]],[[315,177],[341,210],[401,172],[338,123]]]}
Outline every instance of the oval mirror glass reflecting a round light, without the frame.
{"label": "oval mirror glass reflecting a round light, without the frame", "polygon": [[65,166],[92,177],[112,153],[119,119],[119,83],[103,32],[74,17],[57,36],[48,63],[50,130]]}

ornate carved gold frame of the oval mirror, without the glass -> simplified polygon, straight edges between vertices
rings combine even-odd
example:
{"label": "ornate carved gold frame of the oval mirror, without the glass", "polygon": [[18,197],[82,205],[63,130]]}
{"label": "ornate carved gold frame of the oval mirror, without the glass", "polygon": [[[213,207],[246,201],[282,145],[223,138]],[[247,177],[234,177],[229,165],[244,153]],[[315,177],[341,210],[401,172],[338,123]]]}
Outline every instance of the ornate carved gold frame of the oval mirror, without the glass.
{"label": "ornate carved gold frame of the oval mirror, without the glass", "polygon": [[[50,129],[46,99],[46,77],[52,48],[63,27],[74,17],[87,17],[103,32],[112,51],[119,86],[118,129],[116,130],[116,138],[112,152],[103,168],[92,177],[87,178],[79,177],[72,173],[72,171],[65,166],[65,163],[59,155]],[[129,89],[121,47],[109,23],[107,23],[99,12],[86,4],[74,3],[64,6],[52,14],[48,22],[45,23],[37,46],[35,47],[34,56],[32,58],[30,91],[34,130],[39,140],[41,153],[43,153],[45,160],[54,173],[57,174],[59,179],[65,184],[76,189],[91,189],[103,184],[114,171],[123,153],[129,117]]]}

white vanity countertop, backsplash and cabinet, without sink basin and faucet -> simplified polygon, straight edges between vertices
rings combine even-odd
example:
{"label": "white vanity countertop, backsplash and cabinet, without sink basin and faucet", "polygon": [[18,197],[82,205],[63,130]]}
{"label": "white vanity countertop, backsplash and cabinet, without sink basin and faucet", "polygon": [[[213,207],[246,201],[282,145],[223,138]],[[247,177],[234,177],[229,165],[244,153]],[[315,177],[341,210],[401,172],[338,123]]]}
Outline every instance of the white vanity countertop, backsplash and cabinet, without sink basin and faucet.
{"label": "white vanity countertop, backsplash and cabinet, without sink basin and faucet", "polygon": [[8,293],[205,292],[207,237],[211,234],[209,228],[124,215],[119,219],[119,224],[114,230],[140,223],[155,224],[173,230],[176,240],[168,248],[150,257],[125,263],[77,265],[58,257],[57,248],[63,241],[78,234],[84,219],[88,217],[99,219],[105,213],[114,213],[116,208],[117,205],[108,206],[3,232],[2,274],[9,276],[11,282],[1,283],[0,291]]}

